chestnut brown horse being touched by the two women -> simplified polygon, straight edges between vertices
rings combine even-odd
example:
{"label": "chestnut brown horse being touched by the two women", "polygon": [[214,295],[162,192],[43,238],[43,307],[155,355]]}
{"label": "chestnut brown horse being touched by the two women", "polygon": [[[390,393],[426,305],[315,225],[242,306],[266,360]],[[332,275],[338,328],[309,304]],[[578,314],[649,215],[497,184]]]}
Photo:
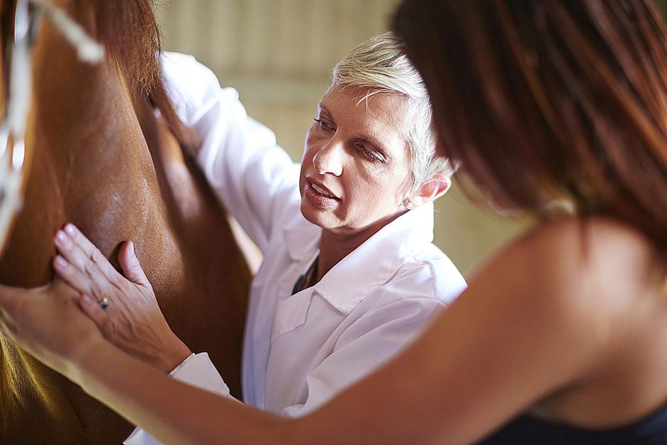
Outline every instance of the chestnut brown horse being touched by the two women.
{"label": "chestnut brown horse being touched by the two women", "polygon": [[[119,243],[133,239],[169,325],[193,351],[208,351],[238,396],[250,273],[218,202],[179,147],[192,141],[160,81],[152,4],[48,1],[103,43],[106,56],[98,65],[80,62],[52,23],[40,21],[25,204],[0,258],[0,282],[49,282],[52,236],[65,221],[112,260]],[[5,61],[15,4],[0,0]],[[6,70],[5,62],[2,110]],[[0,338],[0,444],[119,444],[131,430]]]}

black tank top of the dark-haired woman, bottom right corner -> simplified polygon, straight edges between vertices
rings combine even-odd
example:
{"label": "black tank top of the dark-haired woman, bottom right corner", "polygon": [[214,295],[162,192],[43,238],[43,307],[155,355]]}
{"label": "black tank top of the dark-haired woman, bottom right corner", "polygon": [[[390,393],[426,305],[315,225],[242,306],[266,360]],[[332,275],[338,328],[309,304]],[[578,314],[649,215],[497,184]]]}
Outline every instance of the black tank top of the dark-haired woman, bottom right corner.
{"label": "black tank top of the dark-haired woman, bottom right corner", "polygon": [[667,406],[625,427],[581,429],[522,415],[479,445],[667,445]]}

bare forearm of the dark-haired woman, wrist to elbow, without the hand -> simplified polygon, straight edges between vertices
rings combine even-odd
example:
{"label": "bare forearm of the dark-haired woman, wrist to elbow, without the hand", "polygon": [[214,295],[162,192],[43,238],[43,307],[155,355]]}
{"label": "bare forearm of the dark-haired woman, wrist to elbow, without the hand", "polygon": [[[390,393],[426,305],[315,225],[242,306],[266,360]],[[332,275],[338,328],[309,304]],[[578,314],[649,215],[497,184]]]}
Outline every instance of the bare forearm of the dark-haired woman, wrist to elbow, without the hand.
{"label": "bare forearm of the dark-haired woman, wrist to elbow, without the hand", "polygon": [[68,377],[165,444],[281,443],[286,432],[280,417],[167,378],[106,342]]}

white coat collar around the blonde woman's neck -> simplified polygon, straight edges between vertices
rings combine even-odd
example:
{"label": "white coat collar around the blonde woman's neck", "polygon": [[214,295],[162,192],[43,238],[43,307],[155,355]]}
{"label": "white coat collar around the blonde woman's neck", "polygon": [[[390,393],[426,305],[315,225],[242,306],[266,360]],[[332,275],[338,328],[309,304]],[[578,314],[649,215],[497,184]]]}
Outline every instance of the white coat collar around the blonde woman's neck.
{"label": "white coat collar around the blonde woman's neck", "polygon": [[[320,236],[304,236],[303,229],[303,223],[285,229],[293,260],[312,260],[319,248]],[[347,315],[366,295],[386,284],[406,258],[432,241],[433,204],[429,203],[398,216],[343,258],[320,282],[301,292],[317,293]]]}

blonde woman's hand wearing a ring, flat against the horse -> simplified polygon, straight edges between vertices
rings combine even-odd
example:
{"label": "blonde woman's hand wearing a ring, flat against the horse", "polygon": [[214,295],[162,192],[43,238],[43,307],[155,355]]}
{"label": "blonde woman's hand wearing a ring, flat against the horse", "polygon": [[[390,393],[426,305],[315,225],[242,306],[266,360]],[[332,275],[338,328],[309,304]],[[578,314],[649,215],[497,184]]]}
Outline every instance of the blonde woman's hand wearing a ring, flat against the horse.
{"label": "blonde woman's hand wearing a ring, flat against the horse", "polygon": [[81,292],[79,304],[111,343],[165,373],[190,355],[164,319],[132,241],[118,252],[127,279],[73,224],[57,232],[55,245],[53,268]]}

